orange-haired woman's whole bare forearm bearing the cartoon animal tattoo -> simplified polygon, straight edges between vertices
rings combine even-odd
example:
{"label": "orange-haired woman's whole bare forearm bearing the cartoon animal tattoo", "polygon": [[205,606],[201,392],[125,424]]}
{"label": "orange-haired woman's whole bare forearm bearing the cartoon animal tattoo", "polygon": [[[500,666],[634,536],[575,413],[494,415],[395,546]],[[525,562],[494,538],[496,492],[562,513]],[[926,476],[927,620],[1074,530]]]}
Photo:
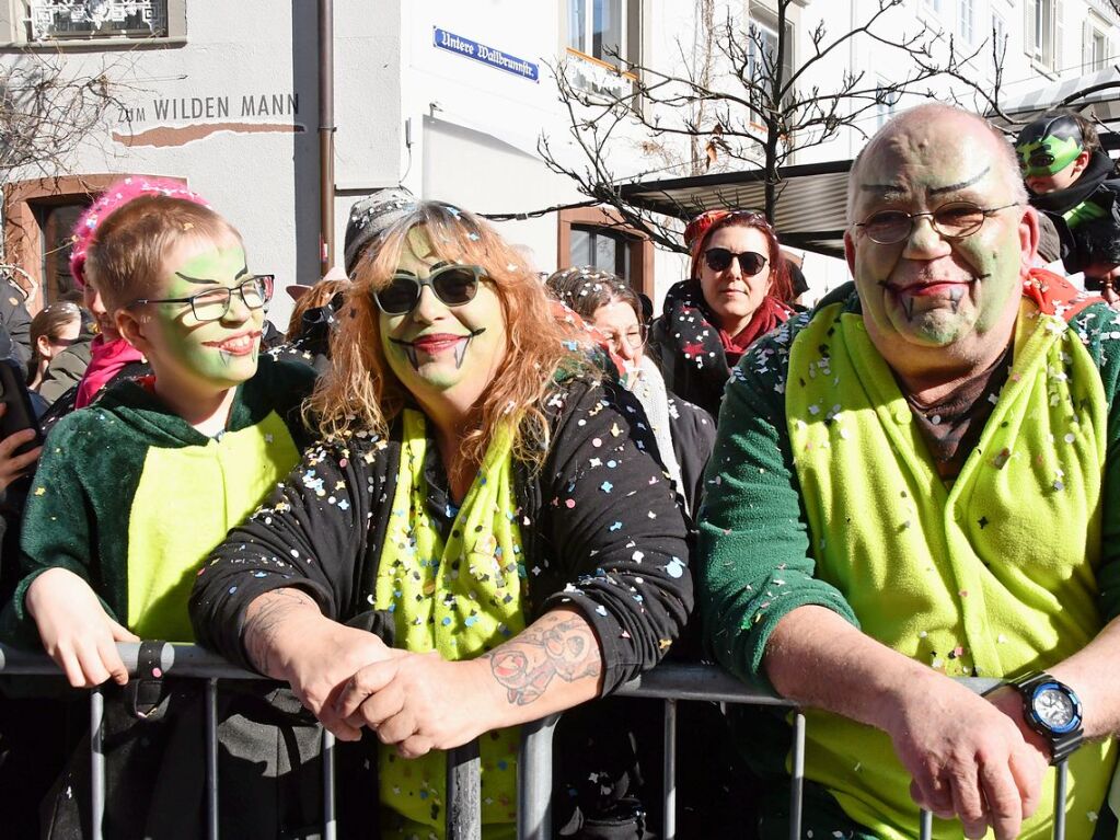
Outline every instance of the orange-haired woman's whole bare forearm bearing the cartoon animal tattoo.
{"label": "orange-haired woman's whole bare forearm bearing the cartoon animal tattoo", "polygon": [[475,661],[493,694],[491,728],[515,726],[592,700],[603,690],[603,654],[591,625],[552,609]]}

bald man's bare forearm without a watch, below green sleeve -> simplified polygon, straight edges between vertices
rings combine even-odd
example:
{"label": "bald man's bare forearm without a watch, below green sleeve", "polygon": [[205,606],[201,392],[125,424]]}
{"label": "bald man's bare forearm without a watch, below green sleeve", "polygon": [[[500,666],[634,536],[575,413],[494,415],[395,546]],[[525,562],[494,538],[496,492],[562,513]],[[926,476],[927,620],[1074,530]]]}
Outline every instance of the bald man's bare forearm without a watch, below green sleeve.
{"label": "bald man's bare forearm without a watch, below green sleeve", "polygon": [[889,730],[906,694],[952,681],[818,606],[792,610],[766,645],[763,668],[775,690],[804,706]]}

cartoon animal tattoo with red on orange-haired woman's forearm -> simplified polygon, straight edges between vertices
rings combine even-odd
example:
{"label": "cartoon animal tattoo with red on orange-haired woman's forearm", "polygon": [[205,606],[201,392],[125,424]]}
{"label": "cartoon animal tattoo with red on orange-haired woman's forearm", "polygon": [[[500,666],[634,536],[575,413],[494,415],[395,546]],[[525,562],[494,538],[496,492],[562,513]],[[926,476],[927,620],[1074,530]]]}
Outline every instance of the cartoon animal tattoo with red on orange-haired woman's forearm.
{"label": "cartoon animal tattoo with red on orange-haired woman's forearm", "polygon": [[575,682],[603,670],[599,643],[581,618],[563,618],[551,626],[529,627],[512,642],[487,654],[491,672],[506,690],[506,699],[525,706],[539,699],[552,678]]}

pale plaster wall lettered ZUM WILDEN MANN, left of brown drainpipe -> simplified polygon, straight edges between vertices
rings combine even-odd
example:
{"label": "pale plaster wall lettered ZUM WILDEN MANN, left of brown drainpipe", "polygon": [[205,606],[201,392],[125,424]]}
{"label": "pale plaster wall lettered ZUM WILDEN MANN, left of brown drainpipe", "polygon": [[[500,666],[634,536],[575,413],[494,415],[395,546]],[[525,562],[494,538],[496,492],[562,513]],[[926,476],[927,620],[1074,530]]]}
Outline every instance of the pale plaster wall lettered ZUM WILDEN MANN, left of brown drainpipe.
{"label": "pale plaster wall lettered ZUM WILDEN MANN, left of brown drainpipe", "polygon": [[[169,48],[64,53],[75,75],[105,71],[121,85],[131,125],[114,114],[113,132],[84,143],[59,175],[148,172],[184,177],[244,235],[250,268],[272,271],[282,286],[317,273],[318,124],[314,3],[190,0],[187,43]],[[11,62],[11,54],[0,56]],[[242,115],[242,96],[298,96],[298,112]],[[166,116],[156,101],[228,97],[228,116]],[[181,146],[128,146],[124,138],[156,128],[206,129],[218,122],[277,123],[296,131],[220,131]],[[12,180],[38,177],[13,172]],[[278,295],[274,323],[287,323],[290,300]]]}

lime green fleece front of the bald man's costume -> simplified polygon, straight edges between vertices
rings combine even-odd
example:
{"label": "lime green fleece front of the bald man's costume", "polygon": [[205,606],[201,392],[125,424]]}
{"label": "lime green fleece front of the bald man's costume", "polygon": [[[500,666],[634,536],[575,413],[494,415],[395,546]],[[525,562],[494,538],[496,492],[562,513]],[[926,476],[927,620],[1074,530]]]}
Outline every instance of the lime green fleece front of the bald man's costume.
{"label": "lime green fleece front of the bald man's costume", "polygon": [[[951,676],[1014,675],[1100,629],[1108,405],[1065,321],[1024,301],[1007,384],[950,489],[862,317],[822,311],[794,340],[786,410],[816,576],[865,633]],[[1027,554],[1024,547],[1029,547]],[[880,731],[810,715],[805,775],[880,837],[917,830],[909,780]],[[1071,760],[1067,837],[1088,838],[1113,743]],[[1048,836],[1053,774],[1023,837]],[[935,821],[934,837],[960,837]]]}

